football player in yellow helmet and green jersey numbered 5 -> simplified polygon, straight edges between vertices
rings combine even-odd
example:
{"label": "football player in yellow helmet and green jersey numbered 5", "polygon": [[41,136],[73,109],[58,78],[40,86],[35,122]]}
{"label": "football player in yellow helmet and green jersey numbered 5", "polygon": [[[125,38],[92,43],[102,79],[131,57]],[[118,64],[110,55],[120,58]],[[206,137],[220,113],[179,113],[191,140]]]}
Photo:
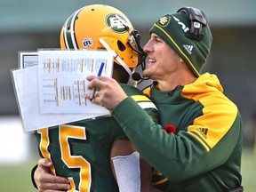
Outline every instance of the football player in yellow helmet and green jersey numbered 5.
{"label": "football player in yellow helmet and green jersey numbered 5", "polygon": [[[157,121],[156,106],[131,86],[132,71],[145,55],[140,34],[123,12],[103,4],[84,6],[65,22],[60,47],[115,51],[113,77],[152,117],[150,121]],[[33,183],[40,191],[138,192],[140,186],[141,191],[158,191],[150,185],[151,167],[110,116],[44,128],[36,132],[36,139],[40,156],[51,160],[41,159],[33,169],[32,180],[35,175]],[[47,173],[50,169],[52,174]],[[141,182],[140,173],[145,176]]]}

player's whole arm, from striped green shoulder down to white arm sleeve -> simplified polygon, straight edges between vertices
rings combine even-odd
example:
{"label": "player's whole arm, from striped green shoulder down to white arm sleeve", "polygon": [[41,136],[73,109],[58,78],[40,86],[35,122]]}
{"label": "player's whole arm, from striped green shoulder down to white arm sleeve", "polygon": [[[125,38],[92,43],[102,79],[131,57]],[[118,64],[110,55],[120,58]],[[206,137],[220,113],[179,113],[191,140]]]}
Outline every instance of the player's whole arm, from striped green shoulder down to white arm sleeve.
{"label": "player's whole arm, from striped green shoulder down to white arm sleeve", "polygon": [[[127,84],[121,84],[124,92],[135,100],[140,108],[143,108],[149,116],[158,122],[158,112],[154,103],[146,97],[143,92]],[[111,148],[111,164],[120,188],[121,183],[126,188],[141,192],[159,192],[151,185],[152,168],[136,151],[130,140],[115,140]],[[119,164],[119,165],[118,165]],[[126,164],[126,165],[124,165]],[[114,169],[115,167],[115,169]],[[130,174],[128,174],[130,173]],[[138,182],[139,180],[139,182]],[[140,185],[140,189],[135,186]],[[132,186],[132,187],[131,187]],[[122,190],[120,190],[122,191]]]}

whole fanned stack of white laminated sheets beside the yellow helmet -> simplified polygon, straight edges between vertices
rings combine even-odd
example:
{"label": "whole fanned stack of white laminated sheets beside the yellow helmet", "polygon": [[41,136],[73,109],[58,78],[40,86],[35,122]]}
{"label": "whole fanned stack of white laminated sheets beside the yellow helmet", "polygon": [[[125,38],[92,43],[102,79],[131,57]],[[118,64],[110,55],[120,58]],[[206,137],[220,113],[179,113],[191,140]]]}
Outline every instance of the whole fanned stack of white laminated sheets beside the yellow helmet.
{"label": "whole fanned stack of white laminated sheets beside the yellow helmet", "polygon": [[86,76],[112,76],[113,52],[20,52],[18,69],[12,70],[13,87],[24,132],[109,116],[109,111],[86,100]]}

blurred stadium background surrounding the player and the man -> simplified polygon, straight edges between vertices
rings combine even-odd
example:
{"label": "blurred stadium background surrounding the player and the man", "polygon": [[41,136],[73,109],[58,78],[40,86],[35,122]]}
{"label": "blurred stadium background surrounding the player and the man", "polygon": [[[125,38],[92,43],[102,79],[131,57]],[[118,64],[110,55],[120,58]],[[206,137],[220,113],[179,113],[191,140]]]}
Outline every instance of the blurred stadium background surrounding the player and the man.
{"label": "blurred stadium background surrounding the player and the man", "polygon": [[12,89],[10,70],[18,67],[18,52],[60,47],[63,23],[71,13],[87,4],[109,4],[120,9],[140,30],[142,45],[148,40],[148,29],[165,13],[176,12],[182,6],[193,6],[206,13],[213,44],[204,71],[220,77],[226,95],[241,111],[243,185],[245,191],[256,191],[255,0],[0,0],[1,191],[36,191],[30,182],[30,170],[38,159],[36,140],[33,135],[22,132]]}

